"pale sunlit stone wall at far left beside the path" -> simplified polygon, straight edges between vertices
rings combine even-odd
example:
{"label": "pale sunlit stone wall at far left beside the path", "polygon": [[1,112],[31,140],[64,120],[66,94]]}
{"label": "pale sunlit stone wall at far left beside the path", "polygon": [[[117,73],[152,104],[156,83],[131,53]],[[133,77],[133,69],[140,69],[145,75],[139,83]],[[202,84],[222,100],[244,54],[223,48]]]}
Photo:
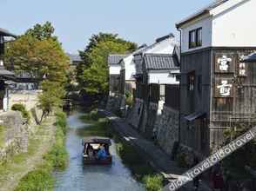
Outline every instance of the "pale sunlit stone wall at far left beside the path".
{"label": "pale sunlit stone wall at far left beside the path", "polygon": [[20,112],[8,111],[0,114],[3,125],[3,145],[0,148],[0,163],[9,155],[27,152],[29,131]]}

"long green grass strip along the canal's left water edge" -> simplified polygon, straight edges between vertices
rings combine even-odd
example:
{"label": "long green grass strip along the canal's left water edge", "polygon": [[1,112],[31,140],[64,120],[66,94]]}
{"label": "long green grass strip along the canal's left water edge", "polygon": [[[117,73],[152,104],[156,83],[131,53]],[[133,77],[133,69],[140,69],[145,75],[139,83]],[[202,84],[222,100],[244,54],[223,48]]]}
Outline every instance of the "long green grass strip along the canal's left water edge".
{"label": "long green grass strip along the canal's left water edge", "polygon": [[44,161],[35,170],[25,175],[15,191],[53,190],[53,170],[63,170],[67,165],[68,154],[64,147],[66,133],[66,116],[63,112],[56,113],[56,140],[51,150],[44,154]]}

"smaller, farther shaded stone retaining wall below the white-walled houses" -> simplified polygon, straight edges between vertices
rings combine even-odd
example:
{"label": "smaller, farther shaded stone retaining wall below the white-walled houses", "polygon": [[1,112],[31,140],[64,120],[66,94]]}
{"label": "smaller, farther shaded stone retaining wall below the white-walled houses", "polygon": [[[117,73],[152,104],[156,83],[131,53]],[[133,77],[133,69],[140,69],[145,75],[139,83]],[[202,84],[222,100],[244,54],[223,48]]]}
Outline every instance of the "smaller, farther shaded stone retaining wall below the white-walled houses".
{"label": "smaller, farther shaded stone retaining wall below the white-walled houses", "polygon": [[133,107],[126,117],[126,121],[133,127],[139,128],[139,123],[144,110],[144,101],[136,98]]}

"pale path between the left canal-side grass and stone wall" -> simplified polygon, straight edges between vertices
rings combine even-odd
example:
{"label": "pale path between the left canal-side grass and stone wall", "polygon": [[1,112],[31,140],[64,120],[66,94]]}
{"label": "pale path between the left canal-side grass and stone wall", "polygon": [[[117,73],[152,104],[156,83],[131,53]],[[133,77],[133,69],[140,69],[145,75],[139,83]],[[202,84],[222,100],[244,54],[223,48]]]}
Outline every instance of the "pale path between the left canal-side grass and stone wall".
{"label": "pale path between the left canal-side grass and stone wall", "polygon": [[37,149],[24,161],[8,161],[4,172],[0,173],[0,191],[11,191],[17,187],[18,182],[37,165],[43,162],[43,155],[51,148],[54,142],[55,117],[50,117],[43,122],[42,127],[37,129],[33,139],[38,140]]}

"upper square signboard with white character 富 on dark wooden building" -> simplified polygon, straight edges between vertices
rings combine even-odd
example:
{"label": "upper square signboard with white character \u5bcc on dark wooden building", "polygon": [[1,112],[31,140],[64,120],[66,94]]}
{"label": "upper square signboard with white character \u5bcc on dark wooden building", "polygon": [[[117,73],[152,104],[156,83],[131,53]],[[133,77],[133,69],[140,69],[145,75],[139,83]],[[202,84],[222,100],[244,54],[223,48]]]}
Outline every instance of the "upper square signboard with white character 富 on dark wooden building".
{"label": "upper square signboard with white character \u5bcc on dark wooden building", "polygon": [[236,58],[231,54],[215,55],[215,73],[233,73]]}

